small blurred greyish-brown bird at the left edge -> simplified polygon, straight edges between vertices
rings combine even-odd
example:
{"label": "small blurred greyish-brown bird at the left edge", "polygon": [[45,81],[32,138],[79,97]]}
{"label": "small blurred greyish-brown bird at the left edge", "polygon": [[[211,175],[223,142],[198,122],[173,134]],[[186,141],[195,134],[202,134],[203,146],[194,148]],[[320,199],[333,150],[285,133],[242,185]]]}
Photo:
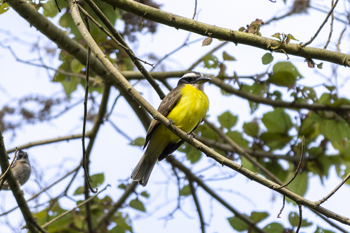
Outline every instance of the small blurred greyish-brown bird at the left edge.
{"label": "small blurred greyish-brown bird at the left edge", "polygon": [[[16,161],[14,161],[14,163],[12,164],[11,170],[20,186],[25,184],[29,180],[31,167],[29,164],[27,152],[24,152],[22,150],[18,151]],[[3,182],[1,190],[9,190],[9,189],[10,187],[8,185],[8,182],[7,181]]]}

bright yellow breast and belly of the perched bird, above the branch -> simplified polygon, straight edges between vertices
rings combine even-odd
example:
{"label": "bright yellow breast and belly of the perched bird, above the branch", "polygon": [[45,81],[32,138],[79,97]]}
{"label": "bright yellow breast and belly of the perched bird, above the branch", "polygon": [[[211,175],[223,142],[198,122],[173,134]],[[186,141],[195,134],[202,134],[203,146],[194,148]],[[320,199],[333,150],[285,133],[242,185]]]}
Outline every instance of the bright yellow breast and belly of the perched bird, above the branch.
{"label": "bright yellow breast and belly of the perched bird, above the branch", "polygon": [[201,90],[185,84],[181,89],[181,99],[167,115],[183,131],[191,132],[200,123],[209,109],[208,96]]}

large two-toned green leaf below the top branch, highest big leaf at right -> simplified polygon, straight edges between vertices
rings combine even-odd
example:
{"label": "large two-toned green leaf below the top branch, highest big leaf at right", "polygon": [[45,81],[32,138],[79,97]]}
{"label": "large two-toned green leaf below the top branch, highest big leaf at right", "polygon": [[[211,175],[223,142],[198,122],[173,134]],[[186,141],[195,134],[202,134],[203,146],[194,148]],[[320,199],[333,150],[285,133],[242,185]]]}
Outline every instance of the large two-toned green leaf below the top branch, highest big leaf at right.
{"label": "large two-toned green leaf below the top branch, highest big leaf at right", "polygon": [[269,75],[268,82],[276,86],[291,87],[296,81],[303,78],[297,68],[289,61],[280,61],[272,68],[273,74]]}

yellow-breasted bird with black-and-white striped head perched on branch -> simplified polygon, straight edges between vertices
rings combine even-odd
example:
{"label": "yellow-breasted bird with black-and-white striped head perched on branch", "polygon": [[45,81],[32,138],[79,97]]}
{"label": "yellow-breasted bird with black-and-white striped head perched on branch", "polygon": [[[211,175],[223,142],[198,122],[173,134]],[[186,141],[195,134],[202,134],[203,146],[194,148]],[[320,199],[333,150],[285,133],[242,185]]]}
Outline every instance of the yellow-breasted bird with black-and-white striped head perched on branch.
{"label": "yellow-breasted bird with black-and-white striped head perched on branch", "polygon": [[[191,134],[203,122],[209,109],[209,99],[204,93],[204,83],[211,78],[200,72],[184,74],[177,86],[164,97],[158,111],[181,130]],[[131,174],[131,179],[146,186],[155,163],[176,151],[184,141],[152,119],[147,130],[146,152]]]}

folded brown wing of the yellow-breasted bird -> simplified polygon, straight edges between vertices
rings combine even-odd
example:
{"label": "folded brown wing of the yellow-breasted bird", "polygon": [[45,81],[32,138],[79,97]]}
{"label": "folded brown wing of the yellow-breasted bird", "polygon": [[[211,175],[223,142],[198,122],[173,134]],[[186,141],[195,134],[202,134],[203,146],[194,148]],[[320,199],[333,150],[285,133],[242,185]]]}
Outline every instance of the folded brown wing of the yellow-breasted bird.
{"label": "folded brown wing of the yellow-breasted bird", "polygon": [[[180,100],[181,98],[181,89],[184,87],[184,84],[179,85],[175,87],[167,96],[164,97],[163,101],[160,103],[158,111],[163,115],[167,116],[168,113],[174,108],[175,104],[177,101]],[[149,125],[149,128],[147,130],[146,134],[146,142],[145,142],[145,147],[147,146],[149,140],[152,137],[152,134],[154,133],[154,130],[156,127],[159,125],[159,121],[155,120],[154,118],[151,121],[151,124]]]}

